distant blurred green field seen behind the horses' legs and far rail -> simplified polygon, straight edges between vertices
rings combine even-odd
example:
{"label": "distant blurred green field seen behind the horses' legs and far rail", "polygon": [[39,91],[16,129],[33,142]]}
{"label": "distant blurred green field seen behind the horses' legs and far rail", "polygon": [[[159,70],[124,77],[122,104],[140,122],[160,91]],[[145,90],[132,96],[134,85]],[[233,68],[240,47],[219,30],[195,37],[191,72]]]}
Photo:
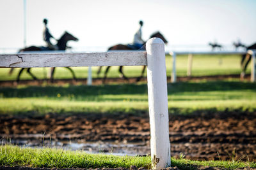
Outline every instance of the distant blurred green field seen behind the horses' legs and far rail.
{"label": "distant blurred green field seen behind the horses' legs and far rail", "polygon": [[[210,75],[225,75],[225,74],[240,74],[241,57],[239,55],[194,55],[193,56],[193,68],[192,76],[210,76]],[[177,56],[177,76],[186,76],[188,66],[188,56],[178,55]],[[86,78],[88,74],[88,67],[73,67],[77,78]],[[97,77],[98,67],[92,67],[93,78]],[[102,69],[100,77],[103,77],[103,71],[106,67]],[[10,76],[8,74],[10,69],[0,69],[0,80],[15,80],[20,69],[15,69],[13,74]],[[126,66],[124,67],[124,74],[128,77],[140,76],[142,66]],[[49,68],[33,68],[31,73],[35,74],[39,79],[46,78]],[[172,57],[166,55],[166,74],[171,75],[172,71]],[[146,71],[147,72],[147,71]],[[250,64],[248,66],[247,72],[250,73]],[[147,73],[145,73],[145,76]],[[111,67],[108,73],[108,77],[118,77],[118,67]],[[54,78],[72,78],[71,73],[63,68],[57,68]],[[22,73],[21,80],[31,80],[26,71]]]}

